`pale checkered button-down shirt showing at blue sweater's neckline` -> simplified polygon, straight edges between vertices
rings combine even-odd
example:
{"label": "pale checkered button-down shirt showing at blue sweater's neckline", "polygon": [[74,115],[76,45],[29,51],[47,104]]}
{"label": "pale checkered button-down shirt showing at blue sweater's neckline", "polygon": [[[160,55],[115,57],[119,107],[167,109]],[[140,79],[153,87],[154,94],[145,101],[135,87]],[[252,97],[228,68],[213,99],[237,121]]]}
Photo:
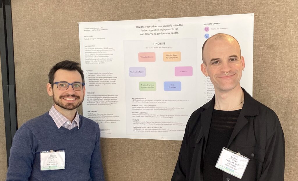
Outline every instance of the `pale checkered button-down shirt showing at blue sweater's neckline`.
{"label": "pale checkered button-down shirt showing at blue sweater's neckline", "polygon": [[80,117],[79,117],[78,112],[76,112],[75,119],[71,122],[65,116],[63,116],[60,112],[58,112],[57,109],[55,109],[55,107],[53,105],[49,111],[49,115],[53,118],[58,129],[60,129],[61,126],[63,126],[66,129],[69,129],[69,130],[73,129],[76,126],[78,127],[78,129],[80,129]]}

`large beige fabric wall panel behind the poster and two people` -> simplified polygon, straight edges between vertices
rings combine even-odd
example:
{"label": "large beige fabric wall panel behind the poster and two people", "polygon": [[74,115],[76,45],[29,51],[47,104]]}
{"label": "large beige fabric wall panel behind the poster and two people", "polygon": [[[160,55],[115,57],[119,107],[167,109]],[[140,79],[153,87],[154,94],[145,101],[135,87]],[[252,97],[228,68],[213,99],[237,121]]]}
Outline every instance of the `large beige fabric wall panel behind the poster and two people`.
{"label": "large beige fabric wall panel behind the poster and two people", "polygon": [[[77,22],[254,13],[253,97],[279,116],[285,180],[298,180],[297,10],[293,0],[12,0],[18,126],[51,107],[45,89],[50,66],[80,61]],[[181,144],[112,138],[101,143],[108,181],[170,180]]]}

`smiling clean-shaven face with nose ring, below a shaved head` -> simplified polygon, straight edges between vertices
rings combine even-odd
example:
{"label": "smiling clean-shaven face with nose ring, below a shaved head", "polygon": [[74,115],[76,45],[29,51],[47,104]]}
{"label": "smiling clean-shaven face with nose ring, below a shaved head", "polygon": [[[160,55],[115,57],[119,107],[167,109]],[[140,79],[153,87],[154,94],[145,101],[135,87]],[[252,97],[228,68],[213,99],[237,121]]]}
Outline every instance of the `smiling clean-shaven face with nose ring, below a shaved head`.
{"label": "smiling clean-shaven face with nose ring, below a shaved head", "polygon": [[240,88],[245,64],[239,44],[234,38],[211,37],[205,44],[203,59],[205,63],[201,64],[201,71],[205,76],[210,76],[215,92]]}

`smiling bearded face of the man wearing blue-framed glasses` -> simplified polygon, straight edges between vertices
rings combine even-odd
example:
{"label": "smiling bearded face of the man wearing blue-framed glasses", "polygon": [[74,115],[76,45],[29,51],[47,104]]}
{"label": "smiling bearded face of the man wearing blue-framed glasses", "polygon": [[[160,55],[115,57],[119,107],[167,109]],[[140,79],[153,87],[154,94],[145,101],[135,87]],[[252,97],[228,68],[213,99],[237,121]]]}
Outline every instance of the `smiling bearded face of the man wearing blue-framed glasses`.
{"label": "smiling bearded face of the man wearing blue-framed glasses", "polygon": [[[76,70],[69,71],[64,69],[59,69],[55,72],[54,81],[53,82],[82,82],[82,77],[80,73]],[[63,112],[66,110],[74,110],[79,107],[85,96],[85,86],[83,90],[75,91],[71,85],[69,85],[66,90],[59,90],[57,88],[57,84],[47,84],[47,91],[50,96],[53,96],[53,100],[55,103],[55,108],[59,112]]]}

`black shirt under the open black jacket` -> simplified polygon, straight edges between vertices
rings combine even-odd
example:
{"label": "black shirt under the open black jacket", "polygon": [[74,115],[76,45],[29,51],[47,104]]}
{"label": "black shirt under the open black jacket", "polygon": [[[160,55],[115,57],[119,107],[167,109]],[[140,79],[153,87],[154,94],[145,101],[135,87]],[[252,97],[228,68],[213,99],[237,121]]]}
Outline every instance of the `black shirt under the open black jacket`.
{"label": "black shirt under the open black jacket", "polygon": [[215,164],[223,147],[227,147],[229,139],[239,117],[241,109],[220,111],[213,109],[206,152],[203,161],[204,181],[223,179],[223,171],[215,168]]}

